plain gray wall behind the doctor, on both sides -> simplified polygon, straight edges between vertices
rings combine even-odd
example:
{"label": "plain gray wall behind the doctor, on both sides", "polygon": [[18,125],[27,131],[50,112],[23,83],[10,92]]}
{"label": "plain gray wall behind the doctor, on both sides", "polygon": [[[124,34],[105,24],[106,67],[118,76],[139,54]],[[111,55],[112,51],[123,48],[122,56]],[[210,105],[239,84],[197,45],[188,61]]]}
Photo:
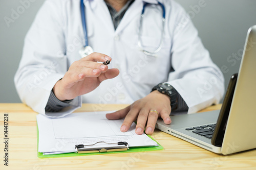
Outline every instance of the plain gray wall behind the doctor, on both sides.
{"label": "plain gray wall behind the doctor, on both sides", "polygon": [[[22,11],[21,2],[31,1]],[[96,0],[97,1],[97,0]],[[203,44],[209,50],[212,60],[222,69],[225,86],[230,76],[238,72],[241,60],[236,64],[228,62],[228,56],[238,54],[244,47],[247,30],[256,25],[256,1],[254,0],[176,0],[190,14],[199,31]],[[204,2],[204,3],[203,3]],[[24,37],[31,26],[36,12],[44,0],[1,0],[0,1],[0,103],[19,103],[13,77],[17,70]],[[203,7],[199,5],[203,4]],[[202,5],[201,5],[202,6]],[[200,7],[200,8],[198,8]],[[19,16],[7,26],[4,17],[10,17],[12,10],[20,10]]]}

